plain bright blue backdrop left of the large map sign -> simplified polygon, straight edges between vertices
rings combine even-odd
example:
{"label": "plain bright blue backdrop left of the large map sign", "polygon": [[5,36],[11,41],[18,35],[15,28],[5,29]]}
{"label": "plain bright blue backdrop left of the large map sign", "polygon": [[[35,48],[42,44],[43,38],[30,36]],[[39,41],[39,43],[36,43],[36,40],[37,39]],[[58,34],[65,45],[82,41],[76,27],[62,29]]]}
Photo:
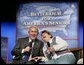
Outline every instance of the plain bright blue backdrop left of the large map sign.
{"label": "plain bright blue backdrop left of the large map sign", "polygon": [[15,45],[15,34],[16,22],[1,22],[1,37],[8,37],[8,62],[12,59],[11,51]]}

